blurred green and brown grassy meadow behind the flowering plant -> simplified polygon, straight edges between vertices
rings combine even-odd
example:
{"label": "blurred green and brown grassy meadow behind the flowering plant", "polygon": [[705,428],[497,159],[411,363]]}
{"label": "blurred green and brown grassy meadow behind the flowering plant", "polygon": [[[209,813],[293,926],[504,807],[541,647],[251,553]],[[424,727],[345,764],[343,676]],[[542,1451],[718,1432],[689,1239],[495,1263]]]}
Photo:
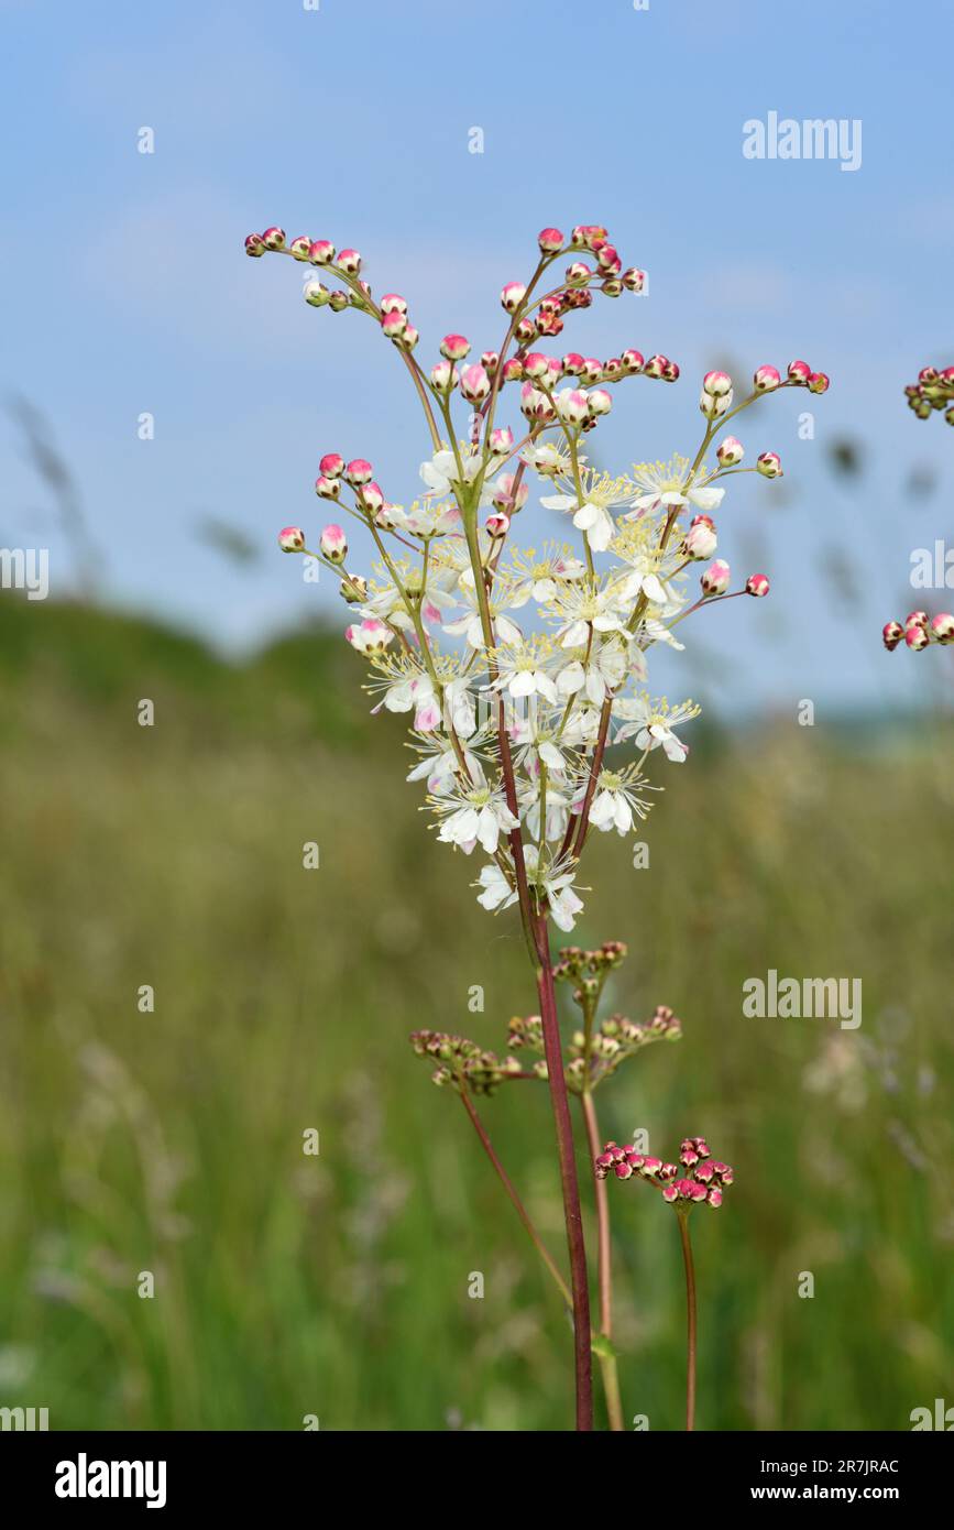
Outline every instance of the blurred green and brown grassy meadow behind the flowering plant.
{"label": "blurred green and brown grassy meadow behind the flowering plant", "polygon": [[[320,630],[229,667],[0,598],[0,1405],[52,1429],[572,1421],[560,1299],[407,1042],[503,1050],[535,1007],[518,923],[425,831],[359,679]],[[653,762],[650,868],[595,835],[581,875],[572,939],[630,946],[612,1007],[685,1030],[599,1091],[602,1135],[735,1166],[693,1219],[705,1429],[954,1403],[952,730],[876,722],[700,733]],[[861,978],[862,1025],[745,1019],[769,968]],[[563,1259],[546,1088],[482,1114]],[[624,1408],[679,1429],[676,1219],[608,1189]]]}

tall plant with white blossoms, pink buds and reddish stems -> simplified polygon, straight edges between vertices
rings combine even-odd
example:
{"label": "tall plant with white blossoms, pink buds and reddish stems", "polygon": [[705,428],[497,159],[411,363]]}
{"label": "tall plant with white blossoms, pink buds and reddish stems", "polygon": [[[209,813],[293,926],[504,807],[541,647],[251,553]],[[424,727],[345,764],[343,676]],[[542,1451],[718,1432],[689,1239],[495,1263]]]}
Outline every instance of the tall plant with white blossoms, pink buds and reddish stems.
{"label": "tall plant with white blossoms, pink buds and reddish stems", "polygon": [[[641,292],[645,272],[624,268],[607,231],[579,225],[572,234],[546,228],[527,282],[508,282],[500,294],[506,332],[498,350],[471,358],[471,343],[448,334],[440,358],[425,370],[416,358],[419,334],[408,303],[396,292],[376,298],[362,277],[362,259],[327,240],[292,239],[280,228],[249,234],[252,257],[278,252],[307,268],[304,298],[332,312],[353,309],[378,324],[393,344],[416,390],[430,435],[420,467],[423,493],[396,503],[375,479],[365,457],[321,457],[315,490],[370,536],[378,562],[353,569],[342,525],[327,525],[315,551],[300,526],[286,526],[286,552],[316,558],[339,578],[353,607],[347,641],[372,666],[368,690],[381,707],[410,716],[416,762],[408,780],[423,783],[425,809],[442,843],[480,854],[474,887],[489,912],[515,907],[537,982],[538,1014],[512,1022],[501,1060],[465,1037],[420,1031],[420,1056],[434,1059],[434,1082],[462,1099],[524,1227],[558,1282],[573,1316],[576,1426],[590,1429],[592,1354],[599,1357],[610,1426],[622,1427],[616,1356],[610,1340],[608,1209],[602,1175],[605,1154],[593,1091],[599,1082],[662,1036],[679,1037],[671,1010],[660,1007],[645,1025],[610,1016],[596,1025],[608,973],[625,955],[619,942],[595,952],[570,947],[555,962],[550,924],[570,932],[582,910],[579,863],[593,831],[631,834],[647,817],[659,782],[648,779],[650,756],[679,765],[688,756],[682,731],[697,715],[693,701],[653,696],[648,655],[656,644],[680,650],[682,623],[706,606],[738,595],[763,597],[769,580],[751,574],[737,588],[717,551],[712,513],[726,479],[757,473],[781,476],[775,451],[743,467],[745,448],[723,435],[729,421],[766,393],[809,389],[824,393],[829,378],[792,361],[783,378],[757,367],[738,401],[725,372],[708,372],[699,409],[702,441],[693,456],[642,462],[613,476],[593,467],[587,436],[610,413],[615,390],[634,378],[674,382],[679,367],[665,355],[648,360],[636,349],[599,360],[578,352],[538,349],[563,332],[564,320],[596,294]],[[553,275],[553,268],[567,262]],[[333,272],[329,289],[316,271]],[[463,401],[466,419],[457,422]],[[506,412],[506,422],[501,415]],[[720,439],[719,439],[720,438]],[[576,537],[555,534],[540,549],[512,543],[514,523],[534,479],[541,503],[564,517]],[[703,565],[697,594],[690,574]],[[679,635],[676,632],[679,629]],[[613,750],[613,762],[607,751]],[[622,756],[622,757],[619,757]],[[556,982],[572,984],[582,1014],[564,1053]],[[538,1054],[521,1066],[517,1051]],[[541,1079],[550,1092],[567,1230],[570,1284],[537,1235],[512,1181],[500,1164],[474,1095],[520,1079]],[[570,1092],[579,1095],[598,1216],[599,1325],[590,1320],[590,1293],[576,1175]],[[702,1138],[686,1138],[703,1154]],[[700,1146],[702,1144],[702,1146]],[[615,1148],[605,1152],[615,1154]],[[634,1151],[633,1151],[634,1152]],[[686,1163],[683,1143],[683,1166]],[[696,1200],[717,1206],[722,1175],[700,1170],[677,1177],[676,1166],[630,1163],[645,1177],[648,1164],[664,1198],[680,1213]],[[668,1175],[668,1169],[673,1175]],[[725,1169],[726,1166],[722,1166]],[[664,1175],[660,1170],[667,1169]],[[622,1170],[622,1174],[621,1174]],[[664,1183],[665,1181],[665,1183]],[[686,1189],[686,1186],[690,1189]],[[706,1187],[708,1186],[708,1187]],[[685,1227],[680,1215],[680,1226]],[[686,1233],[688,1236],[688,1233]],[[685,1245],[683,1245],[685,1247]],[[686,1265],[686,1271],[688,1271]],[[691,1291],[691,1386],[694,1391],[694,1287]],[[691,1427],[693,1411],[688,1412]]]}

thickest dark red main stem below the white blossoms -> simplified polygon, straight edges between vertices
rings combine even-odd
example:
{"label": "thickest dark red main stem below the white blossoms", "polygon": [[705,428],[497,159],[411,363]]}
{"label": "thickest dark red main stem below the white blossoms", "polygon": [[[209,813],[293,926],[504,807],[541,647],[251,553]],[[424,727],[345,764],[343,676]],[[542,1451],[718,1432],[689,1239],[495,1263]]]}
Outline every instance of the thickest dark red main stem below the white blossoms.
{"label": "thickest dark red main stem below the white blossoms", "polygon": [[563,1073],[563,1045],[556,1017],[556,990],[550,962],[550,936],[546,913],[537,915],[537,991],[540,994],[540,1019],[547,1063],[547,1083],[556,1126],[560,1152],[560,1180],[563,1186],[563,1215],[570,1253],[570,1285],[573,1290],[573,1356],[576,1372],[576,1429],[593,1427],[593,1356],[590,1334],[590,1290],[582,1241],[582,1213],[579,1207],[579,1181],[573,1149],[573,1123],[570,1100]]}

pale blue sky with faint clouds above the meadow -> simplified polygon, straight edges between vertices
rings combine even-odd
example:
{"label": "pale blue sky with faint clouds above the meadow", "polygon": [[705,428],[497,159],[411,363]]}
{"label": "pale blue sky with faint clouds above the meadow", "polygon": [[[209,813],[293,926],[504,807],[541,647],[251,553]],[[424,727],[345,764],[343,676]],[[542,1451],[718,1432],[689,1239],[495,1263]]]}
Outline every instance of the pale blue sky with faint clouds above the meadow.
{"label": "pale blue sky with faint clouds above the meadow", "polygon": [[[709,366],[741,379],[798,355],[833,379],[823,399],[743,416],[751,456],[778,450],[786,477],[735,480],[720,554],[774,592],[686,624],[683,688],[726,711],[934,693],[946,656],[887,656],[878,630],[954,604],[907,583],[913,548],[954,540],[954,431],[902,396],[923,363],[954,363],[954,8],[90,0],[0,5],[0,24],[3,396],[43,410],[109,598],[231,649],[316,601],[342,624],[275,529],[326,519],[310,490],[326,450],[368,456],[394,500],[417,488],[427,439],[390,346],[358,315],[306,308],[300,268],[249,262],[246,233],[278,222],[356,245],[375,289],[411,301],[430,363],[448,329],[500,343],[497,294],[531,268],[538,228],[604,222],[650,292],[598,301],[558,344],[682,366],[676,387],[619,390],[598,433],[608,464],[693,451]],[[743,124],[769,112],[859,119],[861,168],[746,159]],[[797,435],[804,407],[813,441]],[[142,412],[154,441],[138,439]],[[842,438],[864,447],[845,482],[827,465]],[[69,548],[6,416],[0,450],[0,540],[49,546],[66,592]],[[913,470],[934,477],[930,496],[911,494]],[[524,514],[521,540],[563,529]],[[258,563],[205,545],[208,517]],[[856,601],[836,594],[833,558]]]}

